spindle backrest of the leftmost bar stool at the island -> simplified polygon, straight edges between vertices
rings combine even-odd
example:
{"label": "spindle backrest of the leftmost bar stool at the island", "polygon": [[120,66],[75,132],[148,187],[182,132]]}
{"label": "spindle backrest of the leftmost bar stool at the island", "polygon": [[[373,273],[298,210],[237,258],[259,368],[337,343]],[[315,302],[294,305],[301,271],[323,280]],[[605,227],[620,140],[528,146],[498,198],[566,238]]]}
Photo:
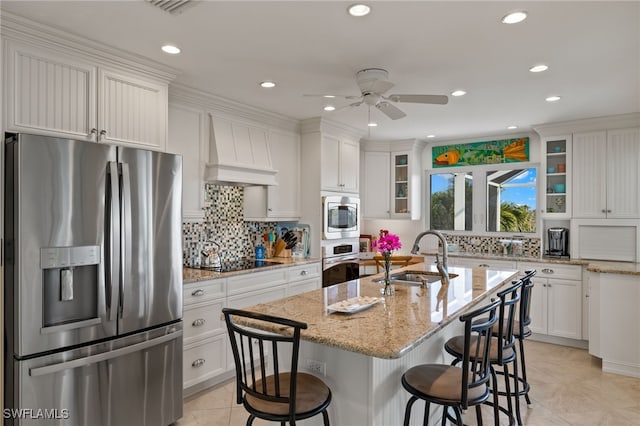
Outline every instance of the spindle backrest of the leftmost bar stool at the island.
{"label": "spindle backrest of the leftmost bar stool at the island", "polygon": [[[267,402],[287,404],[291,424],[295,424],[300,330],[307,324],[239,309],[224,308],[222,313],[235,361],[238,404],[242,403],[243,392]],[[254,327],[277,330],[278,334]],[[291,357],[281,359],[282,353],[291,353]],[[290,374],[281,374],[286,372]]]}

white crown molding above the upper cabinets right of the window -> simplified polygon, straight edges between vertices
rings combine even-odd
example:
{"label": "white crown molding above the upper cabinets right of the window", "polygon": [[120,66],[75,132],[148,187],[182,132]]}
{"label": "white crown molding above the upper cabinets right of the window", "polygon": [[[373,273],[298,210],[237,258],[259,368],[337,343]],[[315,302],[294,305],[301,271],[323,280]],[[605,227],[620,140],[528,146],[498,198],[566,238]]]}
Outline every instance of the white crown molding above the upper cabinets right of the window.
{"label": "white crown molding above the upper cabinets right of the window", "polygon": [[621,129],[640,126],[640,112],[584,118],[558,123],[531,126],[540,136],[555,136],[567,133],[591,132],[595,130]]}

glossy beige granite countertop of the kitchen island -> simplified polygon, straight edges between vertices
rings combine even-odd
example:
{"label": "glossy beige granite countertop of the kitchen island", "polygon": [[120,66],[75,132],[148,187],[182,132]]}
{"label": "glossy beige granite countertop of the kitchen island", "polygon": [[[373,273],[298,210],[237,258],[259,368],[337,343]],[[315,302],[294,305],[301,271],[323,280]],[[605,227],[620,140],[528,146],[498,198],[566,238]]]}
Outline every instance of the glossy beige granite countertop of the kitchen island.
{"label": "glossy beige granite countertop of the kitchen island", "polygon": [[[402,270],[437,273],[435,268],[425,269],[424,263],[418,263],[394,269],[393,274]],[[303,340],[377,358],[400,358],[461,313],[486,302],[489,294],[515,279],[517,271],[451,267],[449,273],[458,276],[451,279],[448,288],[439,281],[428,289],[396,285],[394,295],[352,314],[332,312],[327,307],[352,297],[381,297],[381,285],[373,279],[382,274],[245,309],[307,323],[301,333]],[[238,322],[256,325],[246,319]],[[281,331],[278,327],[266,330]]]}

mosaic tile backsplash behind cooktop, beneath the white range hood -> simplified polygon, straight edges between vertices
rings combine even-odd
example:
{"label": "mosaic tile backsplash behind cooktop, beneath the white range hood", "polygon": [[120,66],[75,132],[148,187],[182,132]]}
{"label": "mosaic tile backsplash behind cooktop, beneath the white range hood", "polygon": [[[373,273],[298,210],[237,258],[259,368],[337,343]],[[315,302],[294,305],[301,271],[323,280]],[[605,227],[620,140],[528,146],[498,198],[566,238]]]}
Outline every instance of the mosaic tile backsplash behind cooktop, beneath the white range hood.
{"label": "mosaic tile backsplash behind cooktop, beneath the white range hood", "polygon": [[275,230],[276,222],[245,222],[244,190],[240,186],[205,184],[205,213],[202,222],[182,224],[183,263],[196,266],[207,241],[220,245],[222,260],[253,257],[256,241]]}

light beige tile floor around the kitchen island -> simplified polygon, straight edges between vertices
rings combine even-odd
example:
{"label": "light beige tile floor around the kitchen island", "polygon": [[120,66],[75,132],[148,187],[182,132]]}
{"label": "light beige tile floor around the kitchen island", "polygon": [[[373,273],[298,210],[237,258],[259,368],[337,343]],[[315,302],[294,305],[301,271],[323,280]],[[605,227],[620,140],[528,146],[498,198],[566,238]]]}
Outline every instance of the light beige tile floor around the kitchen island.
{"label": "light beige tile floor around the kitchen island", "polygon": [[[586,350],[532,340],[526,340],[525,345],[533,402],[533,407],[527,408],[522,399],[525,425],[640,426],[640,379],[603,373],[598,359]],[[245,425],[247,413],[235,404],[234,391],[235,382],[229,381],[189,397],[178,425]],[[484,424],[493,425],[490,407],[483,407],[483,418]],[[475,417],[465,416],[465,422],[473,425]],[[507,423],[501,420],[501,424]],[[266,424],[254,422],[256,426]]]}

